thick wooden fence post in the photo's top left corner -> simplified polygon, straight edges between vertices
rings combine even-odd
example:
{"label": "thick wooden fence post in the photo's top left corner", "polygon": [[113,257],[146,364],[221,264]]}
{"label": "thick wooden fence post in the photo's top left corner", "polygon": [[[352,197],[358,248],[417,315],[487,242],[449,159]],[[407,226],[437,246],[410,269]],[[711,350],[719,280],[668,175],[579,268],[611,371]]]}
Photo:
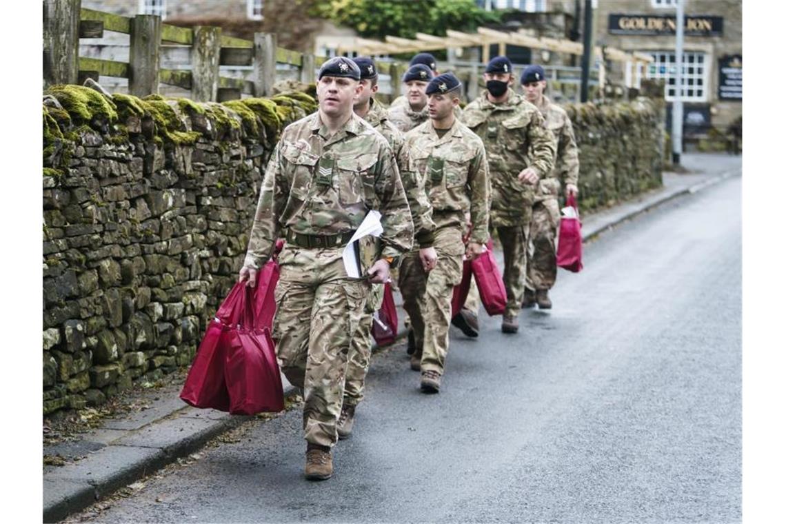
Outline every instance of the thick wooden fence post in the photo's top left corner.
{"label": "thick wooden fence post in the photo's top left corner", "polygon": [[45,0],[44,85],[73,84],[79,75],[79,9],[82,0]]}

